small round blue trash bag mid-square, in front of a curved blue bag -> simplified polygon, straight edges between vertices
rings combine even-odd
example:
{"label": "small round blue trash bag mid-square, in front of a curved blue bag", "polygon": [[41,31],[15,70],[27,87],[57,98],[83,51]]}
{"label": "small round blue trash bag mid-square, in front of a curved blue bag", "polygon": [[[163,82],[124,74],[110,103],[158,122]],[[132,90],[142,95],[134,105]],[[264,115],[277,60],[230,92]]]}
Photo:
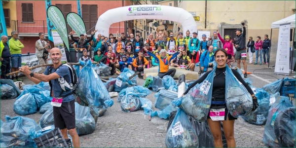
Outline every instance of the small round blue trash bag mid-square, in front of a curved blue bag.
{"label": "small round blue trash bag mid-square, in front of a curved blue bag", "polygon": [[131,112],[141,109],[140,95],[136,93],[128,93],[121,99],[120,107],[122,111]]}

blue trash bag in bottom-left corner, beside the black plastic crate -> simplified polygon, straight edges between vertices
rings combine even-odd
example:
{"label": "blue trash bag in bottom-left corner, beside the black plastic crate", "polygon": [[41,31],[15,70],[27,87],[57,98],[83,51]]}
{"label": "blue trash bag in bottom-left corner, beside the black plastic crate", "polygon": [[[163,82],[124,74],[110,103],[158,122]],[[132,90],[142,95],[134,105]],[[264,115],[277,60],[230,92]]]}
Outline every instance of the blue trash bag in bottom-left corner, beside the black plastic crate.
{"label": "blue trash bag in bottom-left corner, beside the black plastic crate", "polygon": [[[5,116],[6,122],[1,126],[1,145],[7,147],[36,148],[34,142],[35,132],[41,128],[30,118],[22,116]],[[1,146],[2,147],[2,146]]]}

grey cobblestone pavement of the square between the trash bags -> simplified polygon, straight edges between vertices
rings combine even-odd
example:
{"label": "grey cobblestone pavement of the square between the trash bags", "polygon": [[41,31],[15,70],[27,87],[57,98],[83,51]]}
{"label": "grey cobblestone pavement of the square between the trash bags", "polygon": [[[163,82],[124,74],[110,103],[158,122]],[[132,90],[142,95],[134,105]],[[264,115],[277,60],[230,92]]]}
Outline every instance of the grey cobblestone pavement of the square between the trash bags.
{"label": "grey cobblestone pavement of the square between the trash bags", "polygon": [[[236,63],[235,63],[236,65]],[[286,76],[272,74],[274,69],[267,68],[266,65],[254,66],[248,65],[249,74],[254,80],[255,87],[262,87],[268,81],[274,81],[277,78]],[[198,71],[198,67],[196,67]],[[268,74],[268,75],[267,75]],[[294,74],[295,75],[295,74]],[[290,76],[292,77],[292,76]],[[25,78],[25,77],[23,77]],[[265,79],[265,80],[262,80]],[[33,84],[28,78],[24,79],[25,84]],[[143,85],[144,80],[138,79],[138,85]],[[155,103],[154,92],[147,98]],[[151,121],[148,115],[144,115],[144,111],[124,112],[121,111],[120,105],[117,102],[117,97],[112,98],[114,105],[107,110],[104,116],[99,117],[96,124],[96,130],[89,135],[80,136],[81,147],[165,147],[166,126],[168,120],[153,117]],[[17,116],[13,111],[13,100],[1,100],[1,119],[4,120],[5,115]],[[155,108],[152,108],[155,110]],[[33,118],[37,123],[42,114],[26,115]],[[5,120],[4,120],[5,121]],[[237,147],[265,147],[262,142],[264,133],[264,125],[253,125],[238,118],[235,121],[234,137]]]}

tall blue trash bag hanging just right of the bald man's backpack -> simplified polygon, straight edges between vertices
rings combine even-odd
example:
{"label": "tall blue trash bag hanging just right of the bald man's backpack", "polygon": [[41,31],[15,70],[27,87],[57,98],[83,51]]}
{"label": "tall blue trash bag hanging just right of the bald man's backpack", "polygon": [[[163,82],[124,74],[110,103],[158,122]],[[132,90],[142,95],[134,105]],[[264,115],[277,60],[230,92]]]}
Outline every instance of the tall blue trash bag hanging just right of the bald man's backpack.
{"label": "tall blue trash bag hanging just right of the bald man's backpack", "polygon": [[113,105],[107,88],[91,68],[92,63],[88,61],[82,68],[74,90],[76,102],[83,106],[92,106],[107,109]]}

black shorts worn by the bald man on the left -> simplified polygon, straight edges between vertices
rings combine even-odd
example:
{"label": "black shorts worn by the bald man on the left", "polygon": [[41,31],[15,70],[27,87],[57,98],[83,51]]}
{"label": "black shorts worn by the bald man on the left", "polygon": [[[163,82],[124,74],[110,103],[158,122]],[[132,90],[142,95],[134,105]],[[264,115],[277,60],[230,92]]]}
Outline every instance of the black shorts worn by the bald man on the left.
{"label": "black shorts worn by the bald man on the left", "polygon": [[63,102],[61,107],[53,107],[54,126],[68,130],[75,128],[75,100]]}

